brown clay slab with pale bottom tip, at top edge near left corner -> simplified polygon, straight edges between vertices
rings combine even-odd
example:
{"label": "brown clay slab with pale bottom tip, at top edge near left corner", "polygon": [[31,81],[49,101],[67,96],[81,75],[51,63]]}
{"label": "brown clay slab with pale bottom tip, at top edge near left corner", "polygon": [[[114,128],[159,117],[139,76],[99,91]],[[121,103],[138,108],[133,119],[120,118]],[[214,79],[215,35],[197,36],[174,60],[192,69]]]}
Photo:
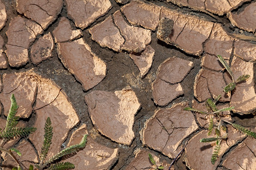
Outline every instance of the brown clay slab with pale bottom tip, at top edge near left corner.
{"label": "brown clay slab with pale bottom tip, at top edge near left corner", "polygon": [[60,13],[62,0],[16,0],[16,10],[46,29]]}

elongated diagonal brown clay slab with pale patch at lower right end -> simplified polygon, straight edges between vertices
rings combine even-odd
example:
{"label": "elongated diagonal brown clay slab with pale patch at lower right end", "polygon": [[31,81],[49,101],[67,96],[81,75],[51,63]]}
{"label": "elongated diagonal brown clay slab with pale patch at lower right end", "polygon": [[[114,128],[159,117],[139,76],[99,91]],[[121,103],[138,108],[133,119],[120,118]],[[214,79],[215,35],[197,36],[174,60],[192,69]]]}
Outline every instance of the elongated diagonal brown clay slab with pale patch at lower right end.
{"label": "elongated diagonal brown clay slab with pale patch at lower right end", "polygon": [[82,83],[84,90],[93,88],[106,76],[106,64],[84,40],[58,42],[57,51],[64,66]]}

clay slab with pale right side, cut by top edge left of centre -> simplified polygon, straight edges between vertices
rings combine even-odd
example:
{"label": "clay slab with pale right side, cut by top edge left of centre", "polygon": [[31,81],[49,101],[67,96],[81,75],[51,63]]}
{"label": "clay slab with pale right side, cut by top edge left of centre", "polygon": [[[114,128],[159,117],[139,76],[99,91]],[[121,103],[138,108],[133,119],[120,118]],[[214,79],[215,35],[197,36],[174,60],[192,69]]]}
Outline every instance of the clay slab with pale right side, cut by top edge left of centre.
{"label": "clay slab with pale right side, cut by top edge left of centre", "polygon": [[68,16],[76,27],[84,29],[112,8],[109,0],[66,0]]}

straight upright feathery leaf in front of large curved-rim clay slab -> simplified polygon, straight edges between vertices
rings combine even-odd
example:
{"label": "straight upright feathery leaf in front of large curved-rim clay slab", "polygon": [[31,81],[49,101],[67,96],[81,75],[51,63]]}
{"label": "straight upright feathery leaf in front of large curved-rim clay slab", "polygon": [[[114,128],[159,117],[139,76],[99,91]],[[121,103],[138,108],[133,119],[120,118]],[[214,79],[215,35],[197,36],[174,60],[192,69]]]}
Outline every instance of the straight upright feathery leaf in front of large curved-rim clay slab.
{"label": "straight upright feathery leaf in front of large curved-rim clay slab", "polygon": [[44,162],[49,151],[49,147],[52,143],[52,122],[51,118],[47,117],[46,124],[44,125],[44,143],[41,148],[40,164]]}

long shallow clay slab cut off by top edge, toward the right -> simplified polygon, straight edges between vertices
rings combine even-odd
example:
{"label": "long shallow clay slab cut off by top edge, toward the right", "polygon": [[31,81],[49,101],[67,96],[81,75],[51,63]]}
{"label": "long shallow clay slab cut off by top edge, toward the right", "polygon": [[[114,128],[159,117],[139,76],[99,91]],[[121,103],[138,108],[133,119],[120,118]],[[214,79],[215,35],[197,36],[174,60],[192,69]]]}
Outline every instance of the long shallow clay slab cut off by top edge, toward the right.
{"label": "long shallow clay slab cut off by top edge, toward the right", "polygon": [[250,0],[167,0],[167,2],[175,3],[179,6],[187,6],[195,10],[200,10],[205,12],[205,10],[212,12],[213,14],[224,15],[227,12],[239,7],[242,3]]}

